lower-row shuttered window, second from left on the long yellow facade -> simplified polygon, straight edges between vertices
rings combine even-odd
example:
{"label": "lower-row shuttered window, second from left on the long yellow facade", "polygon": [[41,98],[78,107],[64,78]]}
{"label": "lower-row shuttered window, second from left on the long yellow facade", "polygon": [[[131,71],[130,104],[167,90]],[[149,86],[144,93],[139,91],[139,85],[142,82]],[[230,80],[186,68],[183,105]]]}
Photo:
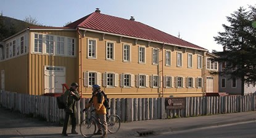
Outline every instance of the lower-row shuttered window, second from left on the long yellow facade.
{"label": "lower-row shuttered window, second from left on the long yellow facade", "polygon": [[118,86],[118,74],[106,72],[103,75],[103,86],[113,88]]}

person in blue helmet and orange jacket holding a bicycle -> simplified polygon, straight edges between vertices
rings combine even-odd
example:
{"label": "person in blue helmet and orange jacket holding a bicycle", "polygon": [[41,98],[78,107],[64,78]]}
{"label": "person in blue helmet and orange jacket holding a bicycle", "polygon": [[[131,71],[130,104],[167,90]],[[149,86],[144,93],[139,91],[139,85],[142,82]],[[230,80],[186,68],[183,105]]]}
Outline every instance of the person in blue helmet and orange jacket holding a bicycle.
{"label": "person in blue helmet and orange jacket holding a bicycle", "polygon": [[[97,128],[98,131],[95,134],[98,135],[102,135],[102,137],[107,137],[107,109],[104,106],[104,95],[101,93],[101,86],[99,85],[93,85],[93,96],[90,99],[90,101],[88,102],[88,104],[85,105],[86,109],[88,109],[91,104],[93,104],[94,109],[96,109],[96,114],[95,117],[99,120],[99,122],[102,123],[102,127],[101,125],[99,125],[99,123],[97,123]],[[86,109],[83,109],[83,111],[85,111]]]}

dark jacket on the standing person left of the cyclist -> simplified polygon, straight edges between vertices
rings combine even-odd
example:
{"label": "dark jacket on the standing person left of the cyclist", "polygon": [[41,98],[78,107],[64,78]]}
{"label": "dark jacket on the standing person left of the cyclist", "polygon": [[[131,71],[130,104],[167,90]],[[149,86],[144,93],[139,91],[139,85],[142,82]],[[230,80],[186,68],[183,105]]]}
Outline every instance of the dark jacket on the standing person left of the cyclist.
{"label": "dark jacket on the standing person left of the cyclist", "polygon": [[75,95],[72,95],[70,92],[70,90],[67,90],[64,93],[65,112],[76,113],[76,101],[80,100],[80,95],[78,91],[73,91]]}

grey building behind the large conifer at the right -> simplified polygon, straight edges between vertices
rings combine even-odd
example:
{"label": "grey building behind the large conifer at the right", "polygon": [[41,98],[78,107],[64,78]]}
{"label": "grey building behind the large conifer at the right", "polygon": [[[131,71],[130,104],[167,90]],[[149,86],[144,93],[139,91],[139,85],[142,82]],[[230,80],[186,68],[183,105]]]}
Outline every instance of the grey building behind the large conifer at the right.
{"label": "grey building behind the large conifer at the right", "polygon": [[[220,63],[220,71],[225,69],[226,62]],[[244,88],[242,86],[241,79],[231,79],[230,75],[220,75],[219,76],[219,92],[228,93],[229,95],[246,95],[255,93],[256,87],[255,83],[244,83]]]}

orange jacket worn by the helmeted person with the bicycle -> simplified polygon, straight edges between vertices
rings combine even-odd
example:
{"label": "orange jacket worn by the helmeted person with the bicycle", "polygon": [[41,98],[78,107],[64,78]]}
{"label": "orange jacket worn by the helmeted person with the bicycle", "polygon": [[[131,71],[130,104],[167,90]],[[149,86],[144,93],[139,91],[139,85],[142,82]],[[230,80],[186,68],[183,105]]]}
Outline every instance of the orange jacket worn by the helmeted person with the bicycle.
{"label": "orange jacket worn by the helmeted person with the bicycle", "polygon": [[98,92],[92,97],[89,103],[85,105],[85,107],[86,109],[88,109],[91,106],[91,104],[93,104],[93,107],[94,109],[96,109],[96,113],[98,115],[107,114],[107,109],[103,104],[104,101],[105,101],[104,95],[101,92]]}

